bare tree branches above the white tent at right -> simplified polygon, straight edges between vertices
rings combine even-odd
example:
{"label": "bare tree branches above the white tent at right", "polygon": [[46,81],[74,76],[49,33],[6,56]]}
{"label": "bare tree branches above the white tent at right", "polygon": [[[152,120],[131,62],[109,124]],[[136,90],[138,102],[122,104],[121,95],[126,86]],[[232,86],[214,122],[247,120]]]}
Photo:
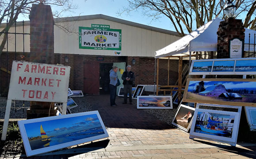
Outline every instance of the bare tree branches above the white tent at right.
{"label": "bare tree branches above the white tent at right", "polygon": [[[127,0],[128,7],[119,12],[129,13],[142,9],[143,14],[158,19],[161,15],[168,17],[176,32],[184,36],[184,30],[191,33],[205,23],[220,17],[224,19],[223,8],[225,0]],[[232,0],[231,0],[232,1]],[[245,26],[255,29],[256,2],[255,0],[237,0],[237,16],[248,12],[245,17]],[[252,20],[251,20],[252,19]]]}

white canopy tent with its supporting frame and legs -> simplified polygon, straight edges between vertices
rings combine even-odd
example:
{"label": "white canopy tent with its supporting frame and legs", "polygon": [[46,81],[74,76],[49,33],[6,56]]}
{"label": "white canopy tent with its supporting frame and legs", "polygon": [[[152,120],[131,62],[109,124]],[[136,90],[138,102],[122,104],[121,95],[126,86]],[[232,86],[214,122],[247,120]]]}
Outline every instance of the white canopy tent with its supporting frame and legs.
{"label": "white canopy tent with its supporting frame and legs", "polygon": [[[210,22],[206,23],[202,27],[199,27],[195,31],[187,34],[183,38],[180,38],[176,42],[157,50],[155,52],[155,58],[157,59],[157,95],[158,91],[174,91],[173,89],[159,89],[158,87],[158,73],[159,73],[159,58],[168,57],[168,80],[169,80],[169,59],[172,57],[179,58],[179,79],[178,79],[178,86],[161,86],[161,87],[178,87],[179,92],[179,101],[181,97],[181,89],[183,88],[182,84],[182,61],[185,57],[189,57],[189,67],[191,64],[191,55],[195,55],[196,52],[217,52],[217,31],[220,25],[220,22],[223,21],[222,19],[215,18]],[[245,28],[245,44],[249,43],[249,35],[250,42],[254,42],[254,34],[256,30],[250,30]],[[256,49],[256,48],[255,48]],[[248,51],[248,45],[244,47],[245,51]],[[250,51],[254,51],[253,45],[250,47]],[[195,57],[192,57],[195,58]],[[156,66],[155,66],[156,68]],[[155,70],[156,71],[156,70]],[[156,73],[155,73],[156,75]],[[155,78],[156,79],[156,78]],[[156,81],[155,81],[156,82]]]}

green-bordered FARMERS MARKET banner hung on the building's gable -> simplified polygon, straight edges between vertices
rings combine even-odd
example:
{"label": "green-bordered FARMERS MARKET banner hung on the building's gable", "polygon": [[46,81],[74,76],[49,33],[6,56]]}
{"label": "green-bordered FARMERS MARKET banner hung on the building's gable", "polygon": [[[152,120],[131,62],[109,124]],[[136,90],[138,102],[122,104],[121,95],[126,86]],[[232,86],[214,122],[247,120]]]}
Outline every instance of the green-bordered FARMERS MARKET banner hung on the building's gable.
{"label": "green-bordered FARMERS MARKET banner hung on the building's gable", "polygon": [[110,29],[110,25],[79,27],[79,49],[121,50],[121,35],[121,29]]}

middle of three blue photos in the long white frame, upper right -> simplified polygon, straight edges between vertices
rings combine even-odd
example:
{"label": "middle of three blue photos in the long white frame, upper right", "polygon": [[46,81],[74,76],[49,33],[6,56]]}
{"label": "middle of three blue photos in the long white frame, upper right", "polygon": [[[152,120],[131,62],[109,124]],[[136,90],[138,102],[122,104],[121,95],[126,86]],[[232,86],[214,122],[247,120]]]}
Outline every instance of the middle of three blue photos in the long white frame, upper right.
{"label": "middle of three blue photos in the long white frame, upper right", "polygon": [[234,60],[227,61],[214,61],[212,72],[233,72],[234,71]]}

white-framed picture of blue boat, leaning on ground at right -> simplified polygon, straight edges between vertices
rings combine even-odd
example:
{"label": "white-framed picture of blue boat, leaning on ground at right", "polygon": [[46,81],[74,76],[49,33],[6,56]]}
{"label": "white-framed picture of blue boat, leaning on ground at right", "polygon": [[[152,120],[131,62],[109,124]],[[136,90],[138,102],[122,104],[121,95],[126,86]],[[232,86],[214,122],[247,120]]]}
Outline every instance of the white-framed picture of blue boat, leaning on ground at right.
{"label": "white-framed picture of blue boat, leaning on ground at right", "polygon": [[239,120],[237,112],[195,109],[189,138],[220,141],[236,146]]}

